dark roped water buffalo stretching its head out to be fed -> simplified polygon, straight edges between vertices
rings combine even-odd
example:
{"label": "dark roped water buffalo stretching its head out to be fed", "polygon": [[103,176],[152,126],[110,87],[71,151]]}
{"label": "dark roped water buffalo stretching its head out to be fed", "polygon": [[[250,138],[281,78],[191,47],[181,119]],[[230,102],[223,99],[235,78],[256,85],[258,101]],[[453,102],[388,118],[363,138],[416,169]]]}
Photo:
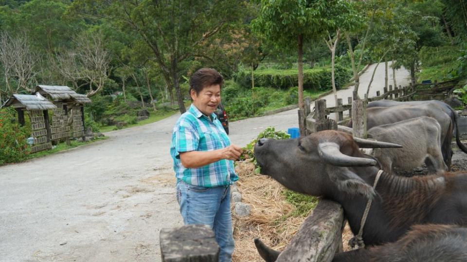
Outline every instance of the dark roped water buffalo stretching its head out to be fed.
{"label": "dark roped water buffalo stretching its head out to be fed", "polygon": [[296,192],[340,203],[355,235],[373,198],[365,245],[394,242],[415,224],[467,225],[467,172],[412,178],[383,172],[373,188],[377,161],[361,153],[351,135],[331,130],[297,139],[263,138],[254,154],[261,174]]}

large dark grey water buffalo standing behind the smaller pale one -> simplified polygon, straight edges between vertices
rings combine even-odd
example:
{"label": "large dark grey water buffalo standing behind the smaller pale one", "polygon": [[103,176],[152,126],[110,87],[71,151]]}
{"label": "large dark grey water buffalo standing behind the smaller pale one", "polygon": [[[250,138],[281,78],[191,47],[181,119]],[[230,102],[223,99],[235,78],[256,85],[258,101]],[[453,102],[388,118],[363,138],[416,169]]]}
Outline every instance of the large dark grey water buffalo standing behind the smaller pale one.
{"label": "large dark grey water buffalo standing behind the smaller pale one", "polygon": [[[411,107],[411,109],[408,110],[407,107]],[[441,152],[448,168],[451,165],[451,141],[454,127],[456,128],[457,146],[467,153],[467,147],[459,139],[458,115],[448,104],[439,100],[407,102],[378,100],[370,102],[367,106],[367,128],[370,129],[377,125],[391,124],[419,116],[431,116],[441,125]],[[351,122],[348,126],[352,126]]]}

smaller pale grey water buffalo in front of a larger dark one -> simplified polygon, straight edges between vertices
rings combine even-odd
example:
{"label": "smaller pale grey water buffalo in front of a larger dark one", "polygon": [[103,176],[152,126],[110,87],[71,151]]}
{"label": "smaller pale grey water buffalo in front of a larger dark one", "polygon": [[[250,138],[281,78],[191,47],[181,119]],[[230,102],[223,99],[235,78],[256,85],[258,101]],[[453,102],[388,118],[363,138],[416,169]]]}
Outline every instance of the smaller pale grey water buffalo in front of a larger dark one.
{"label": "smaller pale grey water buffalo in front of a larger dark one", "polygon": [[432,117],[420,116],[368,130],[368,137],[397,143],[402,148],[385,148],[374,155],[386,172],[393,167],[411,170],[425,163],[430,173],[448,170],[441,154],[441,126]]}

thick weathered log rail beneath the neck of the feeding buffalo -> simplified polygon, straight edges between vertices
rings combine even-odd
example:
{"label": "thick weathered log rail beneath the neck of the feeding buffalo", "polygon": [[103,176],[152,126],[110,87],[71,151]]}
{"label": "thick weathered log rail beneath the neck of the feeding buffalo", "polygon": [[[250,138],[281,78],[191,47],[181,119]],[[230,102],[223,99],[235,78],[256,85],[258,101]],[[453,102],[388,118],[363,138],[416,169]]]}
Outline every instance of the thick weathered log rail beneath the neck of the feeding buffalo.
{"label": "thick weathered log rail beneath the neck of the feeding buffalo", "polygon": [[320,200],[276,262],[331,262],[342,250],[343,222],[341,205]]}

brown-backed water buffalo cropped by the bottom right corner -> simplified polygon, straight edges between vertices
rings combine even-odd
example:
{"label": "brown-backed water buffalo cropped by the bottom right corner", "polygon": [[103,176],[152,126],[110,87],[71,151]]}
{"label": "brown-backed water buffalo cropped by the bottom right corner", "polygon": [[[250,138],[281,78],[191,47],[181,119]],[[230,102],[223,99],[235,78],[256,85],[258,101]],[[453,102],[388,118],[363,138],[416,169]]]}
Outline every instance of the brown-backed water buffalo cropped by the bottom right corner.
{"label": "brown-backed water buffalo cropped by the bottom right corner", "polygon": [[[277,252],[255,239],[266,262],[275,262]],[[467,258],[467,229],[451,225],[415,225],[395,243],[338,253],[333,262],[464,262]]]}

